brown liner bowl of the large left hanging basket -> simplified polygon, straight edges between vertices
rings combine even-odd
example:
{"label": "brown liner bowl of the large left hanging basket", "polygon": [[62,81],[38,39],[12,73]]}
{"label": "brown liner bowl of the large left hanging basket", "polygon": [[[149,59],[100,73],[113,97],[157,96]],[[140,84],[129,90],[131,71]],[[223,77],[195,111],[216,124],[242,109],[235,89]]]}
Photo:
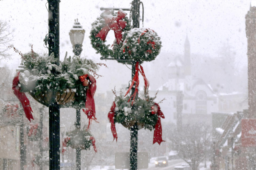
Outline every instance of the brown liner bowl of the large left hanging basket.
{"label": "brown liner bowl of the large left hanging basket", "polygon": [[65,105],[75,100],[75,91],[73,91],[73,89],[66,89],[65,91],[56,92],[55,94],[51,90],[45,91],[39,95],[35,95],[34,92],[29,92],[29,94],[39,103],[47,107],[54,103],[57,103],[58,105]]}

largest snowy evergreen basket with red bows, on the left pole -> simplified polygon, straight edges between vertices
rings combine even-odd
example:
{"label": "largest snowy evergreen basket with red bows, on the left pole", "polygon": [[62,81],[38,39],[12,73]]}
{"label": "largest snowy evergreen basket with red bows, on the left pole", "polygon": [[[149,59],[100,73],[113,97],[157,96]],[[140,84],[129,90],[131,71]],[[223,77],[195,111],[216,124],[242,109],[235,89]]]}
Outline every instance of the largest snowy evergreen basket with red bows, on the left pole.
{"label": "largest snowy evergreen basket with red bows, on the left pole", "polygon": [[[13,46],[10,46],[14,48]],[[17,52],[17,49],[14,48]],[[29,100],[24,92],[29,94],[39,103],[51,106],[72,105],[74,108],[86,108],[88,118],[95,118],[94,93],[96,80],[94,76],[98,65],[92,60],[80,56],[69,56],[67,53],[59,66],[56,65],[56,58],[35,53],[31,46],[31,52],[21,55],[24,70],[17,72],[13,79],[13,91],[21,102],[26,117],[33,119]]]}

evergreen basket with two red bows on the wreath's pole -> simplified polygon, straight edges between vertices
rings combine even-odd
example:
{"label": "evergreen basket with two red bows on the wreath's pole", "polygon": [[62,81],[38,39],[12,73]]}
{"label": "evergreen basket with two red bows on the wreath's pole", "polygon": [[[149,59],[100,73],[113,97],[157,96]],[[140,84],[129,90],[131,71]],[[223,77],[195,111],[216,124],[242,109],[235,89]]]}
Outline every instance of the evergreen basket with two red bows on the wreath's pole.
{"label": "evergreen basket with two red bows on the wreath's pole", "polygon": [[[148,87],[147,81],[145,81],[145,87]],[[163,142],[161,118],[165,117],[160,106],[153,101],[155,97],[149,97],[147,88],[145,88],[145,92],[142,95],[143,98],[138,97],[138,99],[133,99],[132,101],[130,99],[135,93],[131,96],[126,93],[127,96],[125,97],[122,93],[117,96],[116,92],[113,92],[116,97],[108,113],[108,118],[111,123],[110,128],[114,140],[116,139],[117,141],[115,123],[121,123],[127,129],[131,129],[137,124],[138,129],[143,127],[150,131],[154,129],[153,144],[157,142],[160,145]]]}

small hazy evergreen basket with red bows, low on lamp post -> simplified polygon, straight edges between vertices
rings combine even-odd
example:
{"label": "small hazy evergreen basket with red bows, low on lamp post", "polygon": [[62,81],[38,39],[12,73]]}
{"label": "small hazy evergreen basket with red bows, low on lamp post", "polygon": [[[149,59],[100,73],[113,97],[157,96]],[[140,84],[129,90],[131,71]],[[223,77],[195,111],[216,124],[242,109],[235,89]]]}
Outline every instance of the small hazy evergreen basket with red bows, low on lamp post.
{"label": "small hazy evergreen basket with red bows, low on lamp post", "polygon": [[62,154],[66,151],[66,147],[70,146],[73,149],[79,150],[87,150],[90,149],[92,145],[94,151],[97,152],[97,148],[95,146],[95,139],[91,136],[88,129],[86,130],[79,130],[75,129],[73,131],[67,132],[66,138],[62,141]]}

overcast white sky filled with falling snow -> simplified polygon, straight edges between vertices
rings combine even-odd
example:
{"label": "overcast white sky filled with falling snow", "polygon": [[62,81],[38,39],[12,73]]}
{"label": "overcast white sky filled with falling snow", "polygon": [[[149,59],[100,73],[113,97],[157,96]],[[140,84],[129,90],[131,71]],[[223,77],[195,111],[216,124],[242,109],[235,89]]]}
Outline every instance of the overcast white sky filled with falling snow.
{"label": "overcast white sky filled with falling snow", "polygon": [[[33,44],[35,51],[40,51],[40,49],[46,51],[46,48],[43,47],[43,38],[48,32],[46,2],[46,0],[0,0],[0,18],[9,22],[11,28],[15,30],[15,38],[12,44],[21,52],[28,52],[30,50],[29,44]],[[99,8],[130,8],[130,2],[121,0],[61,0],[61,60],[66,51],[73,55],[68,33],[75,18],[78,18],[78,21],[86,30],[82,54],[94,60],[99,60],[100,55],[95,54],[89,39],[91,23],[102,12]],[[218,56],[221,46],[228,42],[237,52],[236,61],[238,65],[244,66],[247,64],[245,15],[250,7],[249,0],[147,0],[142,2],[145,9],[144,27],[154,29],[161,36],[162,53],[183,54],[183,44],[187,34],[190,40],[191,53]],[[107,41],[111,43],[113,40],[114,34],[111,32],[107,36]],[[161,57],[161,53],[158,57]],[[14,54],[13,60],[4,62],[11,65],[12,68],[16,68],[20,62],[19,56]],[[106,61],[105,63],[107,63],[109,69],[101,69],[100,73],[105,73],[105,78],[99,81],[108,81],[110,76],[107,76],[106,73],[114,74],[114,68],[125,67],[115,61]],[[147,64],[145,63],[145,65]],[[152,61],[152,64],[154,65],[154,61]],[[127,67],[125,68],[127,69]],[[121,76],[127,77],[128,82],[131,77],[130,70],[127,69],[123,72]],[[117,79],[119,79],[118,76]],[[153,80],[149,78],[149,81]],[[109,88],[112,89],[114,84],[121,83],[110,83]]]}

